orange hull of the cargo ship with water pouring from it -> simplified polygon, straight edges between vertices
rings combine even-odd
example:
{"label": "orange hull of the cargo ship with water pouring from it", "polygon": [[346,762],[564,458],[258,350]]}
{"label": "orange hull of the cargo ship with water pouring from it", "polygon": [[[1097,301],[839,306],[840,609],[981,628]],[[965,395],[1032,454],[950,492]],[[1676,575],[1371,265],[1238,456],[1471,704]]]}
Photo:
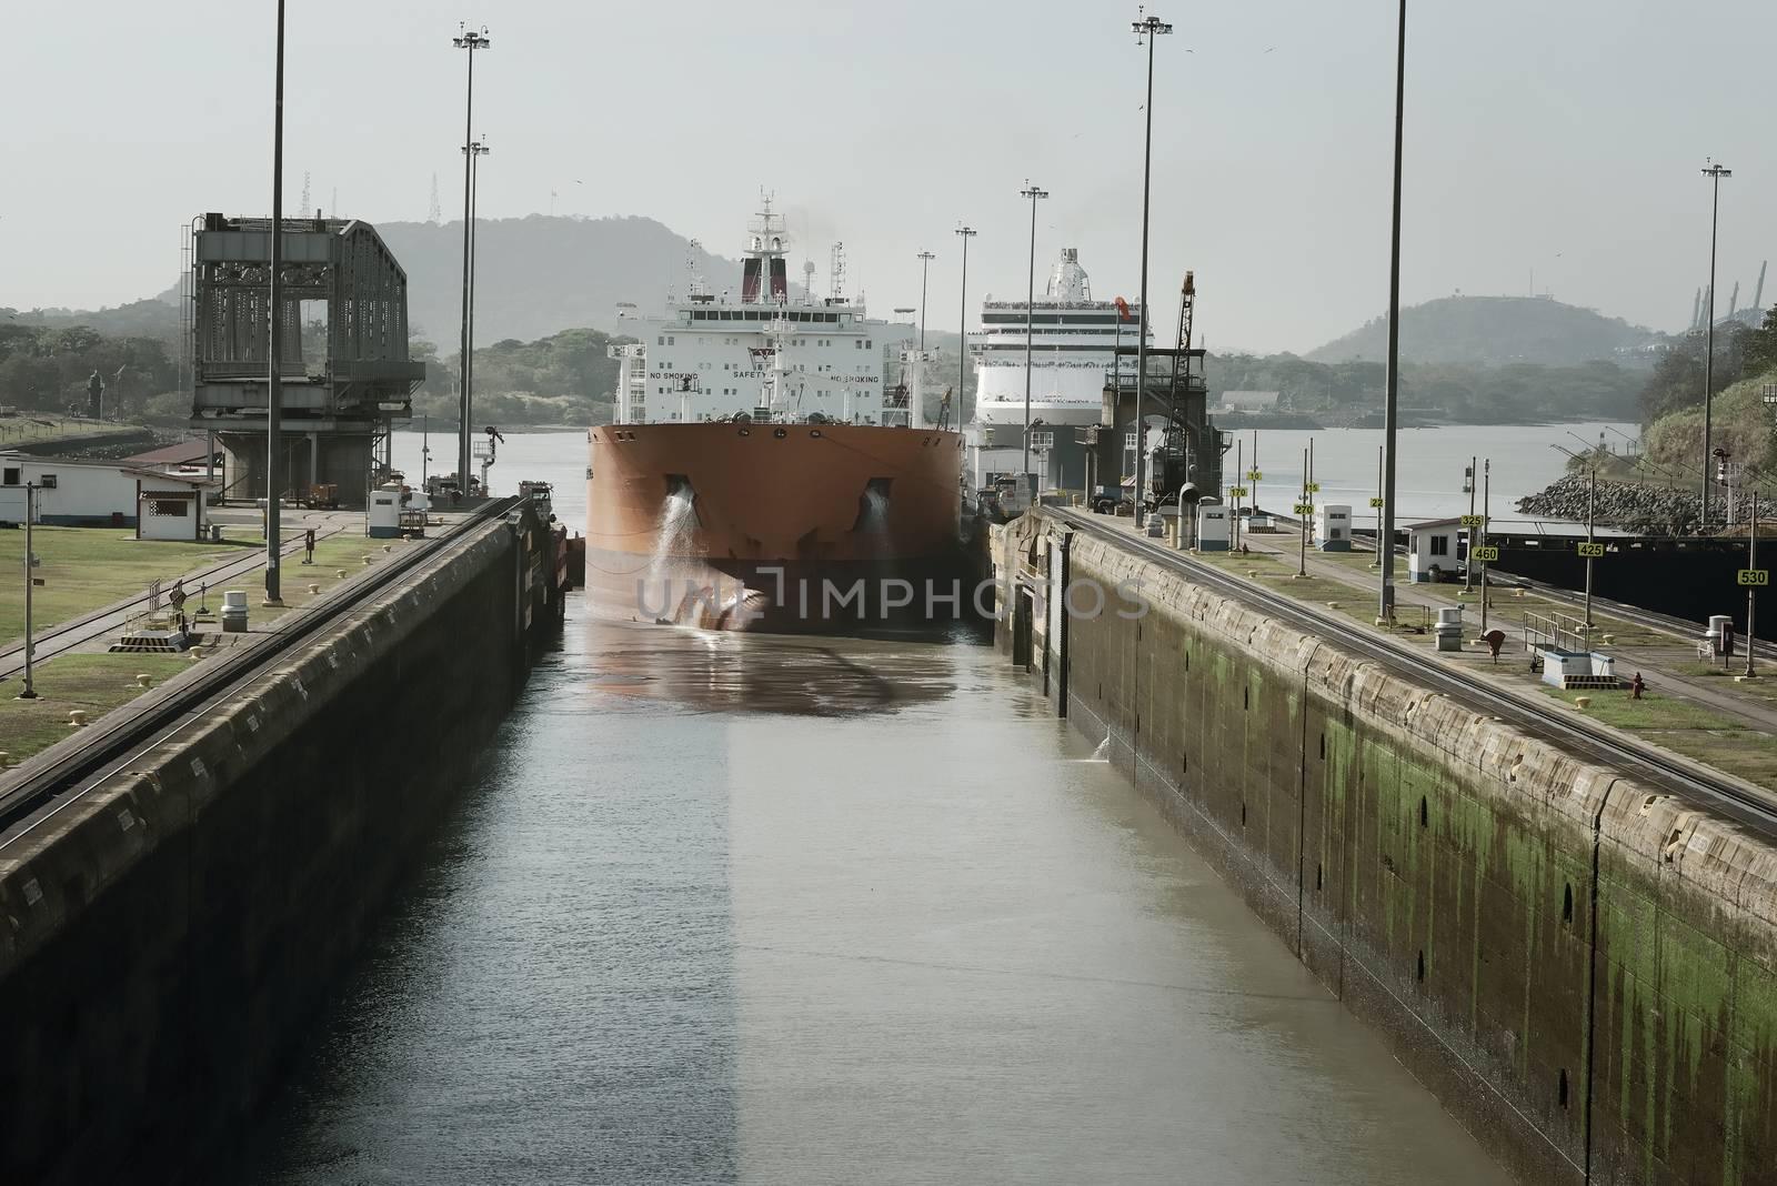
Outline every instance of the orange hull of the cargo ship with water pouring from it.
{"label": "orange hull of the cargo ship with water pouring from it", "polygon": [[[894,582],[931,582],[956,565],[960,433],[613,424],[588,433],[588,455],[586,588],[617,616],[846,629],[904,609]],[[917,589],[913,613],[922,598]]]}

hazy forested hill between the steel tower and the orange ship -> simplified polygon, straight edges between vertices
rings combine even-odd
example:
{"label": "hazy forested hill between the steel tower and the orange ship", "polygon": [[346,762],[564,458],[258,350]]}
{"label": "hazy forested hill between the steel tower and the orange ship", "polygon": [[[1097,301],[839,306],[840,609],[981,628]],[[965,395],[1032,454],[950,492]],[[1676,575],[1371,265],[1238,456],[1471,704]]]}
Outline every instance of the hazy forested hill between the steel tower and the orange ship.
{"label": "hazy forested hill between the steel tower and the orange ship", "polygon": [[[407,268],[407,323],[450,352],[462,320],[462,222],[379,222]],[[686,289],[686,254],[711,291],[739,288],[741,265],[691,250],[652,218],[476,220],[474,339],[535,341],[565,328],[622,332],[617,304],[657,312],[668,289]]]}

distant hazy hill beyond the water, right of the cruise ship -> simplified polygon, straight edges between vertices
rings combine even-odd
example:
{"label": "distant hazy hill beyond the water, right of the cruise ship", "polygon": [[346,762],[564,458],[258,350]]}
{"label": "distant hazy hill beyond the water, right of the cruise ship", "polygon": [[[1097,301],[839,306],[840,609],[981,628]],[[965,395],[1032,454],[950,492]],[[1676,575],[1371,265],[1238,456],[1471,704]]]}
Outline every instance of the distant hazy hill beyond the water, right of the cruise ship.
{"label": "distant hazy hill beyond the water, right of the cruise ship", "polygon": [[[1400,311],[1404,362],[1578,366],[1619,359],[1617,350],[1654,339],[1653,330],[1542,296],[1443,296]],[[1381,362],[1388,318],[1375,318],[1306,357],[1313,362]]]}

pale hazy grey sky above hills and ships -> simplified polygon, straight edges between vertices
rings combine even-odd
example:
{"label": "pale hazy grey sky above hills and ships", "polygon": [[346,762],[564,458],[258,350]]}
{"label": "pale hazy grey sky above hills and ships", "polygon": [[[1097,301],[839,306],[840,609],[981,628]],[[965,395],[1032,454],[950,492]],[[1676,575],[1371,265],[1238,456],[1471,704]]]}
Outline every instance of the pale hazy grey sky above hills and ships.
{"label": "pale hazy grey sky above hills and ships", "polygon": [[[1155,5],[1150,291],[1171,336],[1198,273],[1215,350],[1310,350],[1388,296],[1388,0]],[[163,289],[197,211],[270,211],[270,0],[12,5],[0,75],[0,305]],[[485,23],[480,211],[649,215],[737,254],[761,186],[819,266],[842,238],[873,309],[958,320],[1079,247],[1095,295],[1136,296],[1144,50],[1134,4],[844,0],[288,5],[286,211],[462,211],[464,53]],[[1777,4],[1413,0],[1404,300],[1537,289],[1679,328],[1706,279],[1706,154],[1722,183],[1720,304],[1777,256]],[[716,279],[716,277],[713,277]],[[720,284],[720,281],[718,281]],[[1766,282],[1765,304],[1777,296]]]}

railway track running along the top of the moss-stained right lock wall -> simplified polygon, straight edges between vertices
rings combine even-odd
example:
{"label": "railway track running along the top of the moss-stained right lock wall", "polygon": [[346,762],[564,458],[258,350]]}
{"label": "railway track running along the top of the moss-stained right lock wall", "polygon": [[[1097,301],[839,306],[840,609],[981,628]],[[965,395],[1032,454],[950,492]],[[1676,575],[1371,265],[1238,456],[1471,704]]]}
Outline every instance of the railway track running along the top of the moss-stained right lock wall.
{"label": "railway track running along the top of the moss-stained right lock wall", "polygon": [[1191,559],[1187,554],[1109,527],[1096,515],[1063,508],[1047,508],[1045,513],[1096,538],[1116,542],[1120,547],[1130,549],[1157,565],[1185,572],[1194,582],[1253,605],[1281,621],[1288,621],[1306,634],[1336,641],[1340,646],[1432,691],[1443,692],[1477,712],[1509,721],[1525,733],[1539,737],[1566,753],[1633,774],[1649,785],[1676,790],[1747,827],[1765,834],[1777,834],[1777,795],[1695,767],[1653,746],[1642,746],[1619,737],[1583,717],[1557,716],[1550,710],[1550,703],[1537,703],[1486,682],[1471,680],[1461,671],[1450,669],[1441,660],[1422,655],[1386,636],[1352,629],[1349,621],[1322,614],[1281,593],[1271,593],[1239,577],[1231,577],[1212,565]]}

